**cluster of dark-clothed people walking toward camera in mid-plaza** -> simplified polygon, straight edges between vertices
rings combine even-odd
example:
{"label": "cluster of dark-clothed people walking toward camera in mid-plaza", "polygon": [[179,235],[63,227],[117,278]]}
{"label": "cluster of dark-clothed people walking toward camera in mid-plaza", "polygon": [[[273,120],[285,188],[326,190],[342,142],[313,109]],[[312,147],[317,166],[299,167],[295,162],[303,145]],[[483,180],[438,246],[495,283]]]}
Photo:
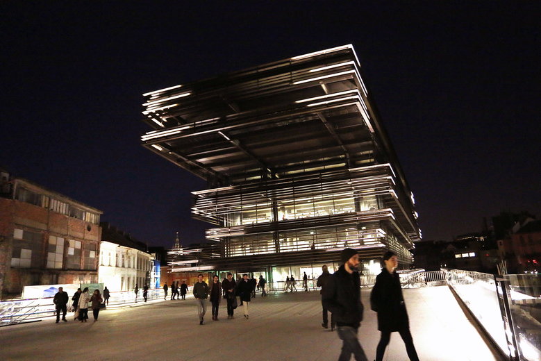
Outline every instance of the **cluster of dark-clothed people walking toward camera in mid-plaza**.
{"label": "cluster of dark-clothed people walking toward camera in mid-plaza", "polygon": [[[255,282],[254,282],[255,281]],[[197,303],[197,315],[199,324],[202,325],[206,314],[207,299],[212,303],[213,321],[219,321],[218,310],[219,303],[222,299],[227,302],[227,319],[233,319],[235,309],[238,307],[237,297],[240,299],[240,305],[244,312],[244,318],[249,319],[249,304],[251,299],[256,296],[256,287],[261,289],[261,296],[267,296],[265,285],[267,281],[263,276],[259,276],[259,283],[256,278],[248,278],[248,274],[243,274],[240,280],[235,281],[233,274],[228,272],[226,278],[222,282],[219,281],[217,275],[213,276],[213,281],[207,285],[203,280],[203,275],[197,276],[197,282],[194,284],[193,293]]]}

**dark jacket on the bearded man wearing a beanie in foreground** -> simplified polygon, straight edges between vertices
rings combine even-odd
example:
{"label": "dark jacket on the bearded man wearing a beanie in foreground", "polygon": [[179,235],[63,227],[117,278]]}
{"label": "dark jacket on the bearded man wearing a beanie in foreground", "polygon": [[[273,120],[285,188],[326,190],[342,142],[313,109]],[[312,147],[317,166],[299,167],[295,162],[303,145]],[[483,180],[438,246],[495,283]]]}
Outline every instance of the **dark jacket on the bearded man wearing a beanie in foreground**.
{"label": "dark jacket on the bearded man wearing a beanie in foreground", "polygon": [[328,284],[323,288],[322,303],[333,312],[338,326],[353,326],[358,328],[363,321],[364,306],[360,301],[359,273],[349,274],[344,265],[328,278]]}

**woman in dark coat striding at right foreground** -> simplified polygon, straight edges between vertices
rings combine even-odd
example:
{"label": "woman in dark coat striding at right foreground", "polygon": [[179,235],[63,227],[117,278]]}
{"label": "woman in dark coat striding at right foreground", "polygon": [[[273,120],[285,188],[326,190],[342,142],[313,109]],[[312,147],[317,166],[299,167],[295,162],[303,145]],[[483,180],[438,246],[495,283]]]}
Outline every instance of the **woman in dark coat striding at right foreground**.
{"label": "woman in dark coat striding at right foreground", "polygon": [[400,278],[396,272],[398,258],[392,251],[383,255],[385,267],[381,274],[376,277],[376,285],[370,294],[372,310],[378,312],[378,330],[381,331],[381,339],[376,349],[376,361],[382,361],[385,349],[389,344],[392,332],[400,333],[406,351],[411,361],[419,361],[413,338],[410,333],[410,324],[406,304],[402,296]]}

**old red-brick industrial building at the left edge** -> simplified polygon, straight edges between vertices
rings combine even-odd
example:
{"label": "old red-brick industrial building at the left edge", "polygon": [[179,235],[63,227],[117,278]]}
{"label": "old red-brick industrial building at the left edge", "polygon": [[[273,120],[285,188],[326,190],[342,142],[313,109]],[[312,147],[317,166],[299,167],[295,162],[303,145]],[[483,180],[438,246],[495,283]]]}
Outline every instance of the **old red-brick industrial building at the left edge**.
{"label": "old red-brick industrial building at the left edge", "polygon": [[101,210],[0,169],[0,296],[97,283]]}

